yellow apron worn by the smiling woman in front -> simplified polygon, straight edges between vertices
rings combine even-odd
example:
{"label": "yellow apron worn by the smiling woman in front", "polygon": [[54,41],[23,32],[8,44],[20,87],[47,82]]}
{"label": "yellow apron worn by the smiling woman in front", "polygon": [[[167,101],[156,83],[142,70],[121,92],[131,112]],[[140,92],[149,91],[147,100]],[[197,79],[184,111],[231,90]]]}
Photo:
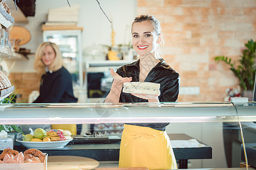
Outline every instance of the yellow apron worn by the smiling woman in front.
{"label": "yellow apron worn by the smiling woman in front", "polygon": [[125,124],[119,167],[177,169],[174,151],[166,131]]}

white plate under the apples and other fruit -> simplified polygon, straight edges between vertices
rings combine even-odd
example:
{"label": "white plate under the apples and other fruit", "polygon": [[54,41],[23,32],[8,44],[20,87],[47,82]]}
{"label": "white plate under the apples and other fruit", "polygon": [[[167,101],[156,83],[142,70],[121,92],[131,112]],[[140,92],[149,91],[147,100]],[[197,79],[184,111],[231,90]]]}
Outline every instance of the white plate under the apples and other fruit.
{"label": "white plate under the apples and other fruit", "polygon": [[26,148],[36,148],[38,150],[50,150],[53,148],[63,148],[73,139],[67,139],[65,141],[51,141],[51,142],[27,142],[27,141],[18,141]]}

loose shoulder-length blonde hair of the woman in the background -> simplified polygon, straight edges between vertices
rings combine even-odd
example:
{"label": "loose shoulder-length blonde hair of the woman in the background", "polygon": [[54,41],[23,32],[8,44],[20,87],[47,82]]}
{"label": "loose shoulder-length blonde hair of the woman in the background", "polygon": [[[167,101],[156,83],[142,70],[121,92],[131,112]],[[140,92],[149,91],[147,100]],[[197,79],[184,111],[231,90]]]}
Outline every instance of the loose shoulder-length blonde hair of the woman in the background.
{"label": "loose shoulder-length blonde hair of the woman in the background", "polygon": [[38,46],[38,49],[36,49],[36,53],[35,53],[34,69],[38,71],[39,74],[46,73],[46,65],[44,65],[42,61],[42,57],[44,53],[44,48],[46,48],[47,45],[51,46],[55,52],[55,59],[53,63],[48,67],[48,69],[51,71],[57,71],[63,66],[63,61],[62,61],[62,56],[61,56],[59,46],[57,46],[52,42],[43,42]]}

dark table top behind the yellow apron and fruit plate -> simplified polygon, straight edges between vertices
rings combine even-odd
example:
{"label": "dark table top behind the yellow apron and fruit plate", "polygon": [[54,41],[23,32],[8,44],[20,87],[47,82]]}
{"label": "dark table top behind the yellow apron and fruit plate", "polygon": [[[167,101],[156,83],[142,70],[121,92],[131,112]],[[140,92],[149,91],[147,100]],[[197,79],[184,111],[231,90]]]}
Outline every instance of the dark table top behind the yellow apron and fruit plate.
{"label": "dark table top behind the yellow apron and fruit plate", "polygon": [[[171,140],[189,140],[186,134],[168,134]],[[200,141],[199,141],[200,142]],[[200,142],[202,143],[202,142]],[[204,143],[202,143],[204,144]],[[120,143],[86,143],[67,145],[63,148],[56,148],[51,150],[41,150],[46,152],[49,156],[55,155],[72,155],[84,156],[98,161],[117,161],[119,160]],[[25,151],[26,147],[15,145],[15,150]],[[212,147],[194,147],[194,148],[173,148],[176,159],[212,159]]]}

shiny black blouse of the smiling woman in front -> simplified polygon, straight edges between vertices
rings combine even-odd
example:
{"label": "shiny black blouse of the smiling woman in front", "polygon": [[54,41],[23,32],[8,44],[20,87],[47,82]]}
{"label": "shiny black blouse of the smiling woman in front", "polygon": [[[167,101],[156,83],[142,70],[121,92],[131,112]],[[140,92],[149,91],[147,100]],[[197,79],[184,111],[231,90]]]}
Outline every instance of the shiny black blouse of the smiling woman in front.
{"label": "shiny black blouse of the smiling woman in front", "polygon": [[[132,82],[139,82],[139,59],[131,64],[124,65],[117,70],[117,74],[122,77],[133,78]],[[146,66],[145,66],[146,67]],[[152,82],[160,84],[160,102],[175,102],[179,95],[180,76],[174,69],[172,69],[164,59],[159,59],[159,63],[153,67],[148,73],[144,82]],[[121,103],[136,103],[136,102],[148,102],[148,100],[141,99],[131,94],[121,92],[119,102]],[[169,123],[157,123],[157,124],[129,124],[137,126],[146,126],[156,130],[165,130],[165,126]]]}

